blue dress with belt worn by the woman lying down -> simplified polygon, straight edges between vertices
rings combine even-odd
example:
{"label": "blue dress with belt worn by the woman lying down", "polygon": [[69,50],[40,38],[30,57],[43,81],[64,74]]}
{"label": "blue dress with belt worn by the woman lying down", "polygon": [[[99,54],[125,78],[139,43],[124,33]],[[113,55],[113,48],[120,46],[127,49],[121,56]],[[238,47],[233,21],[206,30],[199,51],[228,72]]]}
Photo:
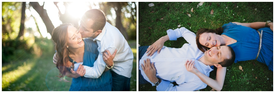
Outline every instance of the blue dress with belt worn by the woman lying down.
{"label": "blue dress with belt worn by the woman lying down", "polygon": [[222,26],[224,35],[237,40],[236,43],[228,46],[232,47],[238,61],[255,60],[259,50],[260,37],[258,31],[262,32],[262,47],[257,61],[268,66],[273,71],[273,31],[270,27],[257,30],[244,27],[235,23],[227,23]]}

